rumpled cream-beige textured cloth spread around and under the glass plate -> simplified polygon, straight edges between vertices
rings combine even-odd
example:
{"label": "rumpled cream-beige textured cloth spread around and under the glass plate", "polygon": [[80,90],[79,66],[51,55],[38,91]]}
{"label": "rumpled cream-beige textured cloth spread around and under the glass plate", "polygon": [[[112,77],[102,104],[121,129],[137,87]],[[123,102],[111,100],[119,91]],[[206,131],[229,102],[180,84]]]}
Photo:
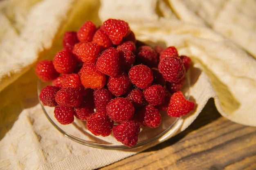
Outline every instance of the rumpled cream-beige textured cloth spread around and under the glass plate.
{"label": "rumpled cream-beige textured cloth spread around and under the glass plate", "polygon": [[61,49],[64,31],[85,20],[129,22],[138,40],[176,46],[193,60],[190,99],[197,106],[174,133],[189,128],[208,99],[231,121],[256,126],[255,0],[2,0],[0,1],[0,169],[92,170],[134,150],[101,150],[67,139],[37,99],[38,60]]}

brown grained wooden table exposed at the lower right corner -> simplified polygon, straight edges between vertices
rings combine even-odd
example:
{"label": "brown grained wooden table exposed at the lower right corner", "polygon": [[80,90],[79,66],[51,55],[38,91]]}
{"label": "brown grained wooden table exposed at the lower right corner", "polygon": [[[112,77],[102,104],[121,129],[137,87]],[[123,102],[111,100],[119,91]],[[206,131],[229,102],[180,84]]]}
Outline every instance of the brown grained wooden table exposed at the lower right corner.
{"label": "brown grained wooden table exposed at the lower right corner", "polygon": [[100,170],[223,169],[256,170],[256,127],[222,117],[210,99],[180,134]]}

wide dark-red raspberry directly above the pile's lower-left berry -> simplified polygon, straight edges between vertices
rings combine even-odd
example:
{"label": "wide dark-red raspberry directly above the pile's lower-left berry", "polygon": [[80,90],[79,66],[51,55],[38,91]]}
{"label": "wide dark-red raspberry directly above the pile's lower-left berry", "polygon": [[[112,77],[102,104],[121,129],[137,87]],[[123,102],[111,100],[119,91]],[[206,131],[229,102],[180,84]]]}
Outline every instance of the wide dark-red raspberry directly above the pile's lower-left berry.
{"label": "wide dark-red raspberry directly above the pile's lower-left berry", "polygon": [[65,87],[56,93],[55,100],[63,106],[77,107],[82,103],[83,97],[77,88]]}

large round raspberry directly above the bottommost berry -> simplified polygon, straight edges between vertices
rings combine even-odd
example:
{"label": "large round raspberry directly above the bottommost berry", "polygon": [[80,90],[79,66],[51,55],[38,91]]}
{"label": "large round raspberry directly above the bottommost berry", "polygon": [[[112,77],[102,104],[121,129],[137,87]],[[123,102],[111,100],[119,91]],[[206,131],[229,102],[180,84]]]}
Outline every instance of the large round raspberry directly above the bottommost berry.
{"label": "large round raspberry directly above the bottommost berry", "polygon": [[135,108],[129,99],[117,97],[107,104],[106,110],[113,121],[122,123],[132,119]]}

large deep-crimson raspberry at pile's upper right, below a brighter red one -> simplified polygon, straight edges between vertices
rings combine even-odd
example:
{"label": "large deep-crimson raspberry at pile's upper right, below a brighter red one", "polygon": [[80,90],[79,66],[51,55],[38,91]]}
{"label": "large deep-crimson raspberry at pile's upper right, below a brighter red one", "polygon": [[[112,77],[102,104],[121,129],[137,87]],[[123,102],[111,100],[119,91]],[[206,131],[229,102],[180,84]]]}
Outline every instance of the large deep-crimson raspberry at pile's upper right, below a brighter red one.
{"label": "large deep-crimson raspberry at pile's upper right, below a brighter red one", "polygon": [[179,57],[165,57],[158,64],[159,72],[168,82],[179,82],[185,77],[186,69]]}

